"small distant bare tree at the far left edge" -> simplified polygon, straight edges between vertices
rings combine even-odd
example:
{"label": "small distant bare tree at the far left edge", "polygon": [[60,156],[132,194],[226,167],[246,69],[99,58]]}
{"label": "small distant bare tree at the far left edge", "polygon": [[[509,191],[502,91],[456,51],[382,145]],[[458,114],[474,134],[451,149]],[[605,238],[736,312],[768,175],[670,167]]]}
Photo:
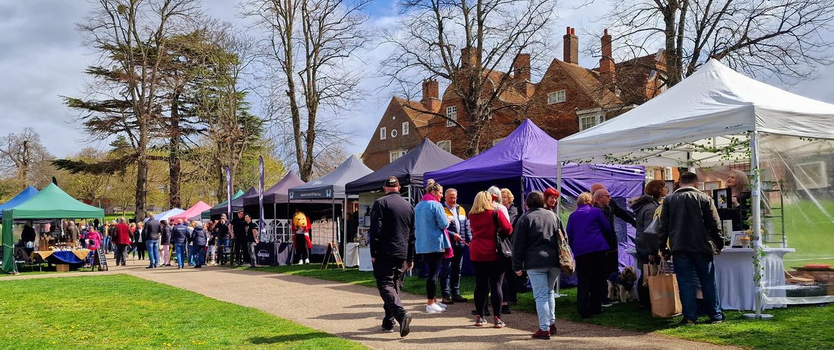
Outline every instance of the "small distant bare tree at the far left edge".
{"label": "small distant bare tree at the far left edge", "polygon": [[47,169],[52,169],[52,158],[33,128],[0,137],[0,172],[16,178],[22,186],[43,183]]}

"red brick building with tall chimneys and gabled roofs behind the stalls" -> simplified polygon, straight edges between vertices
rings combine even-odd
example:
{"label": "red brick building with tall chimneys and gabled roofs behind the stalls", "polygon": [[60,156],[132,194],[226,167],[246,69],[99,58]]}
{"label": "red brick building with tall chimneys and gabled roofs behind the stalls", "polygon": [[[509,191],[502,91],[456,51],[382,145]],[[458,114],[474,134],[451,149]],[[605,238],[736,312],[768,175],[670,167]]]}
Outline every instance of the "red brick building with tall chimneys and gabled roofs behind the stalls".
{"label": "red brick building with tall chimneys and gabled roofs behind the stalls", "polygon": [[[662,92],[662,52],[615,63],[607,30],[600,40],[602,57],[598,68],[578,65],[579,37],[575,29],[568,28],[563,37],[564,57],[550,62],[539,82],[530,81],[529,53],[516,57],[512,72],[485,72],[485,90],[508,75],[511,83],[492,106],[499,112],[490,117],[480,149],[500,142],[525,118],[560,139],[616,117]],[[463,158],[463,129],[438,114],[454,118],[465,127],[465,108],[451,87],[442,98],[438,92],[438,82],[428,80],[423,82],[420,102],[392,98],[365,148],[365,165],[379,169],[417,146],[422,138],[430,138]],[[506,106],[514,107],[501,108]],[[406,128],[408,132],[404,133]],[[397,133],[392,133],[394,130]]]}

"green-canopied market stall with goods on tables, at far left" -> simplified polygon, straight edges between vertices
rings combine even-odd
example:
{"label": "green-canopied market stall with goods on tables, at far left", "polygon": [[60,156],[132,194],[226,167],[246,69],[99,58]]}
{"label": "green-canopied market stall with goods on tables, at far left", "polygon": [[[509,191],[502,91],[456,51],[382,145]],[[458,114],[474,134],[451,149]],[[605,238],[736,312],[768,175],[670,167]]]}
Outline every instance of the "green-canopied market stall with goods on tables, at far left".
{"label": "green-canopied market stall with goods on tables, at far left", "polygon": [[80,248],[78,238],[64,233],[61,224],[62,219],[77,218],[104,218],[104,210],[78,202],[53,183],[27,201],[5,209],[2,236],[3,272],[11,273],[17,269],[14,254],[10,252],[16,247],[25,247],[21,244],[21,233],[16,229],[23,225],[29,228],[38,227],[34,230],[37,233],[34,247],[37,248],[33,248],[31,258],[56,263],[59,270],[63,265],[68,265],[68,268],[83,265],[84,259],[88,258],[91,252]]}

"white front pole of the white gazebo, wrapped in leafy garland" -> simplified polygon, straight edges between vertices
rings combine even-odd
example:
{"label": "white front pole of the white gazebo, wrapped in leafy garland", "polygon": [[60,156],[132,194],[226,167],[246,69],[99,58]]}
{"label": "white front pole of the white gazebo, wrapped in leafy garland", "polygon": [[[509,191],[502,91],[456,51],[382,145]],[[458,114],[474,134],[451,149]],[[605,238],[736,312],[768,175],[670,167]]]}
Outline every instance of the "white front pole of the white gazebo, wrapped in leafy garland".
{"label": "white front pole of the white gazebo, wrapped in leafy garland", "polygon": [[764,296],[764,289],[762,288],[761,273],[761,257],[759,251],[761,250],[761,177],[759,173],[759,133],[753,131],[750,135],[750,168],[753,173],[753,183],[751,191],[751,203],[753,204],[753,280],[757,281],[754,288],[754,295],[756,296],[756,313],[746,313],[745,318],[773,318],[773,315],[761,313],[762,298]]}

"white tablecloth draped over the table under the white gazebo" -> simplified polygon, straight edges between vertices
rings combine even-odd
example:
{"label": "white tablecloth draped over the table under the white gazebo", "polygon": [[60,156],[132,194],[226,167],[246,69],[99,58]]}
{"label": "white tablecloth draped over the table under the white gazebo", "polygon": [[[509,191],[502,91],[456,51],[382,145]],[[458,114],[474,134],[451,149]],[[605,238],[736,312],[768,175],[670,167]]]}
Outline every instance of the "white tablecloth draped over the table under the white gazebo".
{"label": "white tablecloth draped over the table under the white gazebo", "polygon": [[[782,258],[792,248],[764,248],[761,265],[765,268],[765,287],[785,285],[785,268]],[[725,310],[753,310],[756,293],[753,284],[753,248],[724,248],[716,255],[716,284],[721,308]],[[772,290],[771,296],[785,296],[784,290]],[[766,304],[764,308],[785,308],[783,304]]]}

